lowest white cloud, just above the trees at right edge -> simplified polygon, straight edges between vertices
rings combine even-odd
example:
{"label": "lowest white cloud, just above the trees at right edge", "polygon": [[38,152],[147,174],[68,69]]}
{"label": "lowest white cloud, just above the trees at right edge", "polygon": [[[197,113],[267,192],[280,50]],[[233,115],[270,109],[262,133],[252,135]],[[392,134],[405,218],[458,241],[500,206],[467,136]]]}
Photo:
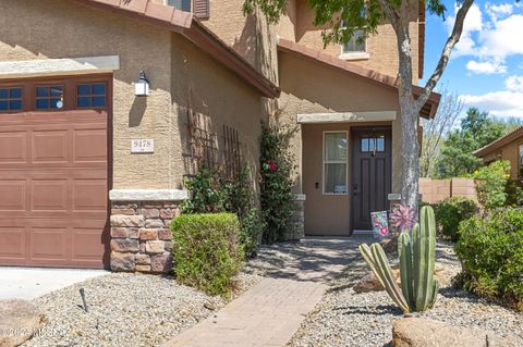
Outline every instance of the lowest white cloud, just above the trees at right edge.
{"label": "lowest white cloud, just above the trees at right edge", "polygon": [[467,107],[488,111],[496,116],[523,117],[523,92],[494,91],[481,96],[464,95],[461,99]]}

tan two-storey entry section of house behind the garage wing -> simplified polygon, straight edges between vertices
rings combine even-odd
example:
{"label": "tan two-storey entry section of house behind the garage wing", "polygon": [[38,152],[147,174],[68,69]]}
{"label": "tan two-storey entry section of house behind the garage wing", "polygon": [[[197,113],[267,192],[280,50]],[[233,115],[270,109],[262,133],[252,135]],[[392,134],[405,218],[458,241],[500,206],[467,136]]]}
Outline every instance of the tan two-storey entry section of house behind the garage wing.
{"label": "tan two-storey entry section of house behind the garage wing", "polygon": [[[391,25],[380,25],[363,45],[353,39],[324,49],[323,28],[313,25],[306,0],[289,0],[287,15],[275,26],[256,15],[244,17],[242,3],[210,1],[204,23],[279,84],[275,113],[280,124],[297,125],[292,152],[304,228],[294,237],[370,230],[370,212],[389,209],[389,194],[398,198],[401,183],[398,50]],[[424,62],[423,1],[413,2],[410,29],[416,85]],[[434,117],[439,98],[433,94],[421,116]]]}

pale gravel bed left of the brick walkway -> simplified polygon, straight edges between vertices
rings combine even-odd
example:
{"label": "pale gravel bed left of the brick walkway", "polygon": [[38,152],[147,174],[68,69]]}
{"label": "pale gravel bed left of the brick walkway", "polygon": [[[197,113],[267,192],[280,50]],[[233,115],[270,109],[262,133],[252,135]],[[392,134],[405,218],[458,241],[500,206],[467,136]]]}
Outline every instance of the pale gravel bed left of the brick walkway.
{"label": "pale gravel bed left of the brick walkway", "polygon": [[[240,274],[238,296],[257,283]],[[89,312],[82,308],[84,287]],[[159,346],[227,302],[177,284],[169,276],[111,273],[33,300],[48,324],[24,347]]]}

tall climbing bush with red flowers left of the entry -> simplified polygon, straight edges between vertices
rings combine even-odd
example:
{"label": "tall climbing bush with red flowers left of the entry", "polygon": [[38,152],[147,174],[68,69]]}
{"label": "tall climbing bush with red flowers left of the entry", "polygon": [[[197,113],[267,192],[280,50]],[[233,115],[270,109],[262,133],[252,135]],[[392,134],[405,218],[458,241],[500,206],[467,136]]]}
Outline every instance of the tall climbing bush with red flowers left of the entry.
{"label": "tall climbing bush with red flowers left of the entry", "polygon": [[263,124],[260,137],[260,200],[265,222],[263,241],[282,240],[292,226],[294,201],[291,178],[294,170],[289,141],[294,129]]}

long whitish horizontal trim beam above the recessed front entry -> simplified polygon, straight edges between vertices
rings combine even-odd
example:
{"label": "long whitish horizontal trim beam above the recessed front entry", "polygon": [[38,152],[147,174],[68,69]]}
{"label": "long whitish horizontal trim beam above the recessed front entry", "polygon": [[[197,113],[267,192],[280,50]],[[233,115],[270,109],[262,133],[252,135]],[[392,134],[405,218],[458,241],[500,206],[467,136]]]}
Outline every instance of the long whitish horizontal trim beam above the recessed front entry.
{"label": "long whitish horizontal trim beam above the recessed front entry", "polygon": [[396,111],[378,112],[338,112],[299,114],[296,122],[305,123],[345,123],[345,122],[378,122],[396,120]]}

